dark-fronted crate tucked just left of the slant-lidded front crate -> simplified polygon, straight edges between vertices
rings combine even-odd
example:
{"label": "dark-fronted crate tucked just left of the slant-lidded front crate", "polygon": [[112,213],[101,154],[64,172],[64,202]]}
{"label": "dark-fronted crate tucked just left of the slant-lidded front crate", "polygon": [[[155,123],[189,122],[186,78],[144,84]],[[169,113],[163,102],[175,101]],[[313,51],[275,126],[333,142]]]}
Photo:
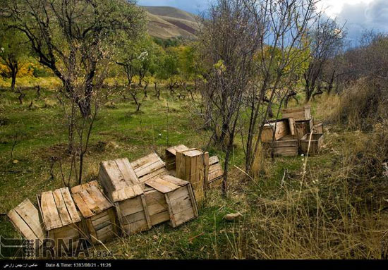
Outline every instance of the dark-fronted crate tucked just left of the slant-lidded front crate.
{"label": "dark-fronted crate tucked just left of the slant-lidded front crate", "polygon": [[154,188],[146,187],[144,194],[148,214],[150,214],[151,225],[155,226],[159,223],[169,221],[169,207],[167,206],[164,193]]}

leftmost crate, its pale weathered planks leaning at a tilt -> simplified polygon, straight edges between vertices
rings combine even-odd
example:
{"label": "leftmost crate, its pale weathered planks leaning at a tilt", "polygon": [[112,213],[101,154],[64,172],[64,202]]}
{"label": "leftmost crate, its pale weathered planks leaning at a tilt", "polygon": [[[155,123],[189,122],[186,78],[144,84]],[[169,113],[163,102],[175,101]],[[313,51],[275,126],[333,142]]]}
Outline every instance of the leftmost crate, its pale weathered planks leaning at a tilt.
{"label": "leftmost crate, its pale weathered planks leaning at a tilt", "polygon": [[39,241],[39,248],[43,240],[46,238],[46,231],[40,219],[40,214],[37,208],[28,199],[24,200],[17,207],[8,211],[8,218],[11,223],[19,231],[26,240]]}

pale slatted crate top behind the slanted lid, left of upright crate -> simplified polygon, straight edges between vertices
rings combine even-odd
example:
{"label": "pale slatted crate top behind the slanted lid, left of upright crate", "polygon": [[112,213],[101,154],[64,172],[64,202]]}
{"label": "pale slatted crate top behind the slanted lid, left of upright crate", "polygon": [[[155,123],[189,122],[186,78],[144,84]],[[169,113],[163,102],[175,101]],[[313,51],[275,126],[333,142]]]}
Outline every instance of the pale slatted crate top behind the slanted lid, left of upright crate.
{"label": "pale slatted crate top behind the slanted lid, left of upright crate", "polygon": [[168,173],[166,164],[156,154],[152,153],[131,163],[141,183]]}

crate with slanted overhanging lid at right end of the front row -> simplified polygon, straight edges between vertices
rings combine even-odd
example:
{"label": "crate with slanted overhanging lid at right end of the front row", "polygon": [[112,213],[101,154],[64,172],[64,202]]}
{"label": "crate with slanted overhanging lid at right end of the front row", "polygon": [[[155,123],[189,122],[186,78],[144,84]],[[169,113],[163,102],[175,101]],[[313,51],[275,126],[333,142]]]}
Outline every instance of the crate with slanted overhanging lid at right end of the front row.
{"label": "crate with slanted overhanging lid at right end of the front row", "polygon": [[173,176],[161,176],[146,183],[164,194],[170,225],[174,228],[198,217],[198,207],[190,182]]}

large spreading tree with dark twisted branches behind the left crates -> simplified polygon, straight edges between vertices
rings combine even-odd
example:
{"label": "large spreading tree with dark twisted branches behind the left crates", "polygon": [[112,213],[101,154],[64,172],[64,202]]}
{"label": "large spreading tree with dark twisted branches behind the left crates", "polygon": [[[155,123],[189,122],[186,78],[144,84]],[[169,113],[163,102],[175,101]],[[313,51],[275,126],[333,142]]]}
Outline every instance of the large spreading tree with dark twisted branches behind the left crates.
{"label": "large spreading tree with dark twisted branches behind the left crates", "polygon": [[143,33],[145,13],[128,0],[4,2],[1,16],[25,35],[37,61],[63,84],[61,104],[68,120],[68,150],[73,154],[68,185],[71,176],[81,183],[112,45],[119,35],[132,40]]}

